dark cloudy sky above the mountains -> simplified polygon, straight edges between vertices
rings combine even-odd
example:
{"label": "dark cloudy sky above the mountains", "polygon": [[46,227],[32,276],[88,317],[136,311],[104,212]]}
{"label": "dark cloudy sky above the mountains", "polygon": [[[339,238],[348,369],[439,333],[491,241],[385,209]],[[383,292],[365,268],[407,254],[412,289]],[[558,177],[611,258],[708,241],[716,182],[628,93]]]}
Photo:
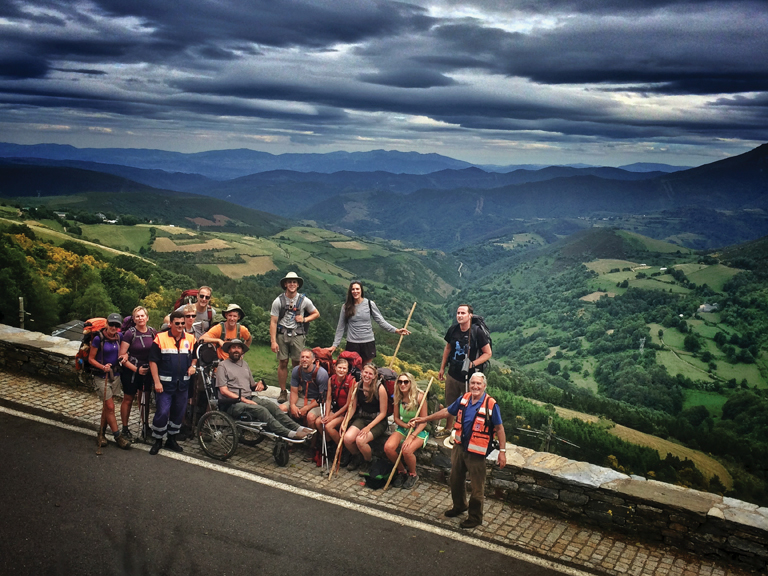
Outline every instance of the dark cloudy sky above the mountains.
{"label": "dark cloudy sky above the mountains", "polygon": [[767,56],[765,0],[0,0],[0,141],[694,166]]}

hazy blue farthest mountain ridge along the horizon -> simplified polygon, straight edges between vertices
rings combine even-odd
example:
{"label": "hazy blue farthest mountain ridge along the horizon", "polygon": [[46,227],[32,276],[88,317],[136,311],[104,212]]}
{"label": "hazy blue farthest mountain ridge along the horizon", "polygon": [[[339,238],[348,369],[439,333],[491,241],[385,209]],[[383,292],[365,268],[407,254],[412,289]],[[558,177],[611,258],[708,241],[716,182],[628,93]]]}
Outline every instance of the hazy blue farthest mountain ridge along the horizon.
{"label": "hazy blue farthest mountain ridge along the horizon", "polygon": [[[0,143],[0,157],[38,158],[56,161],[98,162],[145,170],[164,170],[200,174],[213,180],[231,180],[258,172],[292,170],[296,172],[390,172],[392,174],[430,174],[440,170],[479,167],[486,172],[507,173],[538,170],[539,165],[480,166],[440,154],[371,150],[368,152],[329,152],[326,154],[270,154],[249,149],[210,150],[193,154],[139,148],[75,148],[61,144]],[[663,166],[663,165],[661,165]],[[564,168],[589,168],[586,165]],[[674,167],[669,167],[674,169]],[[635,170],[628,170],[635,171]],[[659,172],[669,170],[659,168]]]}

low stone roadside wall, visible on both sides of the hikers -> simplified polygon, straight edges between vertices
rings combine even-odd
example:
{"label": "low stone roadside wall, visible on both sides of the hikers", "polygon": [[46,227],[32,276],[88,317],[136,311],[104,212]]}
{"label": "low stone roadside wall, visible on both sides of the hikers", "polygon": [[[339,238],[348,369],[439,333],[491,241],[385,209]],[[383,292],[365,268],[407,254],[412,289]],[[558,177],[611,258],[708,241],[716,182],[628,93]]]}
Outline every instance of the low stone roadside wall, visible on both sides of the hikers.
{"label": "low stone roadside wall, visible on both sides of the hikers", "polygon": [[[77,342],[0,324],[0,369],[86,388],[74,370]],[[419,472],[445,482],[450,449],[430,439]],[[486,494],[576,522],[662,541],[765,572],[768,508],[733,498],[627,476],[586,462],[507,445],[507,466],[489,461]]]}

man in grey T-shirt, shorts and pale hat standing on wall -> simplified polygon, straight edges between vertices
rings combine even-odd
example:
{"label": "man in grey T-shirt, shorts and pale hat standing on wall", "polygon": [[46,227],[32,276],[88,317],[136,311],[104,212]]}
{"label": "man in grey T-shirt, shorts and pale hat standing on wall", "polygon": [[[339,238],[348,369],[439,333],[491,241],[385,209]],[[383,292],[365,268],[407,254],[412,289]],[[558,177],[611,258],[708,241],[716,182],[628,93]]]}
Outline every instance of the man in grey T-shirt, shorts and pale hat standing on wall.
{"label": "man in grey T-shirt, shorts and pale hat standing on wall", "polygon": [[284,403],[288,400],[285,383],[288,380],[288,359],[293,367],[299,365],[301,351],[305,348],[307,324],[320,317],[312,300],[299,290],[304,285],[304,279],[296,272],[288,272],[280,280],[280,286],[285,292],[272,302],[270,312],[269,337],[272,340],[272,352],[277,354],[277,382],[280,384],[280,396],[277,401]]}

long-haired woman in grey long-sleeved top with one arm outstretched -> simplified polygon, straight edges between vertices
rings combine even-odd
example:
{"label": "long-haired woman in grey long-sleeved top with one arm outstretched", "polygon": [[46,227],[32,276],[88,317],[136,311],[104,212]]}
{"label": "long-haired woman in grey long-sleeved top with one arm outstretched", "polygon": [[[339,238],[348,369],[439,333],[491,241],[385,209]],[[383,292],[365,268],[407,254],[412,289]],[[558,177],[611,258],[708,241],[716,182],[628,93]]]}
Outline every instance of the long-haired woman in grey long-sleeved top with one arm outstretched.
{"label": "long-haired woman in grey long-sleeved top with one arm outstretched", "polygon": [[376,341],[373,338],[371,319],[375,320],[387,332],[406,336],[410,334],[405,328],[395,328],[384,320],[384,316],[381,315],[376,304],[365,297],[363,285],[355,281],[349,285],[349,290],[347,290],[347,300],[339,314],[339,324],[336,326],[336,337],[333,339],[331,352],[334,352],[341,344],[346,330],[347,346],[345,350],[360,354],[363,359],[363,366],[370,362],[376,356]]}

